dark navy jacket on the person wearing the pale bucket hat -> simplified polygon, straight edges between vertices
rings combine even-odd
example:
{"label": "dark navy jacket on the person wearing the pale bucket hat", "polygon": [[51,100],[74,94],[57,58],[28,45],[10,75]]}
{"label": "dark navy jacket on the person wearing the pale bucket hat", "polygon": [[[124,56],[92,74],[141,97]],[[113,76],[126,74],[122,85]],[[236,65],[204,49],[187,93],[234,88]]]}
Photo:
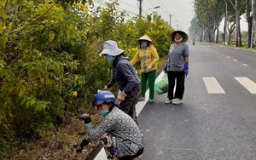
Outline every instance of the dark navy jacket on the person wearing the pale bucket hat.
{"label": "dark navy jacket on the person wearing the pale bucket hat", "polygon": [[137,77],[136,70],[131,65],[129,58],[124,55],[119,55],[113,60],[113,78],[108,83],[110,89],[114,83],[118,83],[119,90],[125,91],[125,94],[130,94],[132,89],[137,89],[140,86],[140,80]]}

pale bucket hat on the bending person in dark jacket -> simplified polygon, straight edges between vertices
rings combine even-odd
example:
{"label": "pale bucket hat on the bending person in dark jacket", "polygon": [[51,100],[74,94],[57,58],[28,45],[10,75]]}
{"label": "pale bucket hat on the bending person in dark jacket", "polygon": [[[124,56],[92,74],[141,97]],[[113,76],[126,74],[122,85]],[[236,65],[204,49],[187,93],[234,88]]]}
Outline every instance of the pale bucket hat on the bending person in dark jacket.
{"label": "pale bucket hat on the bending person in dark jacket", "polygon": [[124,52],[123,49],[118,48],[117,43],[113,40],[105,41],[103,45],[104,45],[104,48],[102,52],[99,54],[100,56],[106,55],[106,54],[111,56],[117,56]]}

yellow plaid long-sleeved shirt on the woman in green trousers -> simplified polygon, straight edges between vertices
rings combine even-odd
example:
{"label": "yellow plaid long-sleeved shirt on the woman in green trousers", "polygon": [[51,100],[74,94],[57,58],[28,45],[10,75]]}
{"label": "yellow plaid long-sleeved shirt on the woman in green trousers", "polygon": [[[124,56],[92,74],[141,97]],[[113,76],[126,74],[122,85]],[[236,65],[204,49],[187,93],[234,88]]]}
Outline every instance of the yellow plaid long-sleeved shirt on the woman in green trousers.
{"label": "yellow plaid long-sleeved shirt on the woman in green trousers", "polygon": [[146,49],[138,49],[133,59],[131,60],[131,65],[136,64],[136,62],[141,61],[141,72],[145,72],[147,66],[151,66],[149,71],[154,71],[157,69],[157,61],[160,60],[157,50],[151,43]]}

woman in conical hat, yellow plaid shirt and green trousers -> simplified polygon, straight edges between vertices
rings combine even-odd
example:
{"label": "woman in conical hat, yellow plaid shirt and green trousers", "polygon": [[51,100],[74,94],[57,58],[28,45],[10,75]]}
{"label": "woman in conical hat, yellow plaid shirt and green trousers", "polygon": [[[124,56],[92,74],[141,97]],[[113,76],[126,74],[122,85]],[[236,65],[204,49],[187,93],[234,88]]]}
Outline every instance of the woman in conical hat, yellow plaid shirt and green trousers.
{"label": "woman in conical hat, yellow plaid shirt and green trousers", "polygon": [[144,35],[137,40],[139,49],[131,60],[131,65],[136,64],[138,60],[141,62],[141,87],[142,97],[140,100],[146,100],[146,86],[148,82],[149,100],[148,103],[153,103],[154,100],[154,81],[156,78],[157,61],[159,55],[153,46],[153,41]]}

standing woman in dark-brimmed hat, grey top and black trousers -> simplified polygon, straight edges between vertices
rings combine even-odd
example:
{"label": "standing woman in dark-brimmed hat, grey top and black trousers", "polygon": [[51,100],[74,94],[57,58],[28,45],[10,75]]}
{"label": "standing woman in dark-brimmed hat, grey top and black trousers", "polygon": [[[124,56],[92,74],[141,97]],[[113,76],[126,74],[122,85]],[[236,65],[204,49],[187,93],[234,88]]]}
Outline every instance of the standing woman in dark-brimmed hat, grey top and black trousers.
{"label": "standing woman in dark-brimmed hat, grey top and black trousers", "polygon": [[[188,35],[183,31],[173,31],[172,44],[169,49],[165,71],[168,74],[168,100],[166,104],[175,105],[183,103],[185,77],[189,73],[189,46],[186,44]],[[174,86],[176,82],[175,94]]]}

